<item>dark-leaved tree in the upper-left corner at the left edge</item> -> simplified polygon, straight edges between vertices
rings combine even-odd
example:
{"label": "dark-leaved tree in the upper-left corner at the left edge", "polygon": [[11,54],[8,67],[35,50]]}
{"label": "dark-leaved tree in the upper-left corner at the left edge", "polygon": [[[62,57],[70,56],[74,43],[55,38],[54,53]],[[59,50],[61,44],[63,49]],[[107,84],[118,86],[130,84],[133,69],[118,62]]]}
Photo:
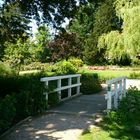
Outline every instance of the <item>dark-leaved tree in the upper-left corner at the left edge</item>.
{"label": "dark-leaved tree in the upper-left corner at the left edge", "polygon": [[30,20],[21,13],[18,3],[0,7],[0,59],[4,55],[5,42],[16,42],[17,38],[26,40],[29,36]]}

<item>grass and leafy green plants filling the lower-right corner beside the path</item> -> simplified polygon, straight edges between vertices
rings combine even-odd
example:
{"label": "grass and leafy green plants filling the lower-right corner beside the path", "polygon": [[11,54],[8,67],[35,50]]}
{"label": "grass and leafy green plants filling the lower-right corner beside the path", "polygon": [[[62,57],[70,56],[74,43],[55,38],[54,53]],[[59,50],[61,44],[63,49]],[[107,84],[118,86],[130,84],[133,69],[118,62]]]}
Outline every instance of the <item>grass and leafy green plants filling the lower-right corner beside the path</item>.
{"label": "grass and leafy green plants filling the lower-right corner beside the path", "polygon": [[129,89],[118,110],[109,112],[97,127],[86,131],[80,140],[138,140],[140,139],[140,91]]}

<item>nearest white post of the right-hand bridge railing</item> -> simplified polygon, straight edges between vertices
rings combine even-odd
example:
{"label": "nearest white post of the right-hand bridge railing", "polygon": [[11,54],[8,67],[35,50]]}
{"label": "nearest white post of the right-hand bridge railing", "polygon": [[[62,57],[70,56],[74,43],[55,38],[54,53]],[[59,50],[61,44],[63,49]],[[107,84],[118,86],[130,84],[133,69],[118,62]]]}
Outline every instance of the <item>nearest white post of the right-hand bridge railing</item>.
{"label": "nearest white post of the right-hand bridge railing", "polygon": [[112,109],[112,96],[111,96],[111,84],[108,85],[108,90],[107,90],[107,109],[110,110]]}

